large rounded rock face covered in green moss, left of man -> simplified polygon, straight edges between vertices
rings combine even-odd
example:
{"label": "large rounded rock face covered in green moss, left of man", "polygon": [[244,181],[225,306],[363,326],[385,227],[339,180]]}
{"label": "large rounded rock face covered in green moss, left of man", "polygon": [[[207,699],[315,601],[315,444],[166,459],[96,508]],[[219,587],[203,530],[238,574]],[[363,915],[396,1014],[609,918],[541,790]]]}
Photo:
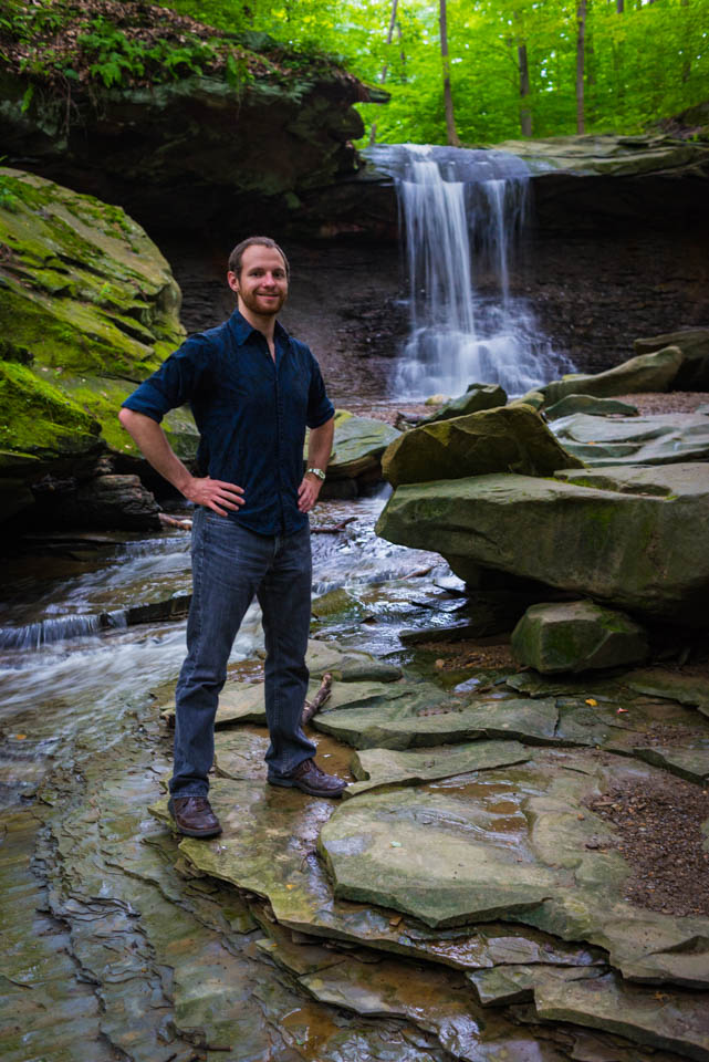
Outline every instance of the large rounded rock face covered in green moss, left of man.
{"label": "large rounded rock face covered in green moss, left of man", "polygon": [[[85,479],[106,447],[136,452],[117,409],[181,342],[180,292],[119,208],[8,168],[0,189],[0,470],[31,504],[49,471]],[[190,421],[167,418],[181,456]]]}

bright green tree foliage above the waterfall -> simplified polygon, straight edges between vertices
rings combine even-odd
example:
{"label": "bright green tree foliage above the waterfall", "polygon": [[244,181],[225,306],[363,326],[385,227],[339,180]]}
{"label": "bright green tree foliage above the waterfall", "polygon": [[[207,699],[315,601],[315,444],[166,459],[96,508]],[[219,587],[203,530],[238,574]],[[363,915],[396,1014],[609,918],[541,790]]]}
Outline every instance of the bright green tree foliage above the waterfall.
{"label": "bright green tree foliage above the waterfall", "polygon": [[[288,46],[344,56],[365,82],[392,94],[363,104],[385,142],[446,138],[438,4],[399,0],[170,0],[166,6],[237,32],[268,32]],[[530,72],[526,107],[534,136],[576,128],[575,0],[448,0],[456,119],[463,142],[521,135],[520,45]],[[709,0],[590,0],[585,64],[586,132],[637,132],[707,97]],[[368,142],[368,134],[362,144]]]}

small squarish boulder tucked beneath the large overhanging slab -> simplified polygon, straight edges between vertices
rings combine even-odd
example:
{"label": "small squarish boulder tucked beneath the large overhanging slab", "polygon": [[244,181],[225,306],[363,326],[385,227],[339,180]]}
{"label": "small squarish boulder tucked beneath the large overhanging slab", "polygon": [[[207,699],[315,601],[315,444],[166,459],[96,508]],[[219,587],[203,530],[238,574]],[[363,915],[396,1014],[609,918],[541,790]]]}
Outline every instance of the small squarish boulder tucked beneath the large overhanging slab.
{"label": "small squarish boulder tucked beneath the large overhanging slab", "polygon": [[543,675],[640,664],[647,658],[643,627],[592,601],[532,605],[512,632],[520,664]]}

